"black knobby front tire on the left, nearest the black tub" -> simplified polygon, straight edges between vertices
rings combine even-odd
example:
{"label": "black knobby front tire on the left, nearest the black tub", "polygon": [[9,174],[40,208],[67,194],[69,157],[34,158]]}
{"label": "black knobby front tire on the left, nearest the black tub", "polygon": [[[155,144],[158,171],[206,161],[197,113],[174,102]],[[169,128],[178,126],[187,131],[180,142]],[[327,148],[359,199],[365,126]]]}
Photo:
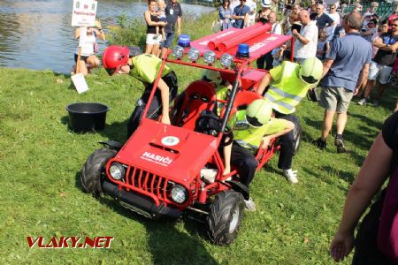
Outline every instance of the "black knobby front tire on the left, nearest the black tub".
{"label": "black knobby front tire on the left, nearest the black tub", "polygon": [[101,175],[106,163],[116,155],[116,150],[108,148],[97,149],[89,155],[80,175],[80,182],[86,193],[101,193]]}

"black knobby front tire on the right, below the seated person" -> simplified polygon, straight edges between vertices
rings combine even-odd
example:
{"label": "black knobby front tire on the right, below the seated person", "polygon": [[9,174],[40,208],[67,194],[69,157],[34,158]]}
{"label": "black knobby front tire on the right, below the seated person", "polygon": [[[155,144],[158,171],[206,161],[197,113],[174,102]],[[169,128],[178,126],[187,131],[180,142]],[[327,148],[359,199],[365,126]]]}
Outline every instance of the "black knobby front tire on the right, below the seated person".
{"label": "black knobby front tire on the right, below the seated person", "polygon": [[229,245],[238,236],[244,215],[241,193],[226,191],[218,193],[207,217],[207,234],[217,245]]}

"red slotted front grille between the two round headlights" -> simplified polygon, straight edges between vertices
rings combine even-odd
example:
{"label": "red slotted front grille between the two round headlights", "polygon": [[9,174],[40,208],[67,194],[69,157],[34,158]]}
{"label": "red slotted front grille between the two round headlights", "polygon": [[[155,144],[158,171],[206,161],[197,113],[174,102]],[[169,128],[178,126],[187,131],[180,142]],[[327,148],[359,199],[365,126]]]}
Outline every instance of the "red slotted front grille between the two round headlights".
{"label": "red slotted front grille between the two round headlights", "polygon": [[[128,167],[126,172],[126,190],[132,189],[139,193],[156,197],[158,201],[171,203],[168,195],[172,190],[172,183],[167,178],[157,176],[147,170]],[[155,201],[157,201],[155,200]]]}

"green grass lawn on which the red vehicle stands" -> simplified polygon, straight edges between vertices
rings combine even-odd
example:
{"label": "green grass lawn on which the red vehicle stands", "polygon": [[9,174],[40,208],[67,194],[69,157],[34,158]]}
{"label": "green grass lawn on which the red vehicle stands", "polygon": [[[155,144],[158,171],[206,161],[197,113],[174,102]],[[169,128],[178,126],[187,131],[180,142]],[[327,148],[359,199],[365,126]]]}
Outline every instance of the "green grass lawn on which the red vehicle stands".
{"label": "green grass lawn on which the red vehicle stands", "polygon": [[[200,76],[191,68],[175,71],[180,87]],[[299,183],[288,183],[273,157],[250,186],[257,211],[246,212],[238,239],[223,247],[206,240],[201,223],[150,221],[110,198],[82,193],[81,166],[98,141],[126,140],[126,119],[143,88],[103,69],[87,81],[89,91],[78,95],[69,76],[0,68],[0,263],[332,264],[327,251],[345,195],[396,95],[388,89],[379,108],[350,106],[346,154],[336,154],[332,138],[325,151],[310,145],[323,110],[303,100],[297,110],[303,141],[294,159]],[[105,130],[69,131],[71,102],[108,105]],[[103,250],[30,249],[28,236],[114,239]]]}

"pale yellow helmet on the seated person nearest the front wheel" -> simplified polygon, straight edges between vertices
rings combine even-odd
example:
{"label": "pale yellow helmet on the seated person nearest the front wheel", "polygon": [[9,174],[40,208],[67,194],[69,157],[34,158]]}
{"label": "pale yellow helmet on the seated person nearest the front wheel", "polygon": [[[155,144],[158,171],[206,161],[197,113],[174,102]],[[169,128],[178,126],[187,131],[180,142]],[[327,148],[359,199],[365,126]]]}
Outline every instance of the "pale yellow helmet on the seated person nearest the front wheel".
{"label": "pale yellow helmet on the seated person nearest the front wheel", "polygon": [[246,110],[246,119],[253,127],[266,125],[272,117],[271,102],[267,99],[256,99]]}

